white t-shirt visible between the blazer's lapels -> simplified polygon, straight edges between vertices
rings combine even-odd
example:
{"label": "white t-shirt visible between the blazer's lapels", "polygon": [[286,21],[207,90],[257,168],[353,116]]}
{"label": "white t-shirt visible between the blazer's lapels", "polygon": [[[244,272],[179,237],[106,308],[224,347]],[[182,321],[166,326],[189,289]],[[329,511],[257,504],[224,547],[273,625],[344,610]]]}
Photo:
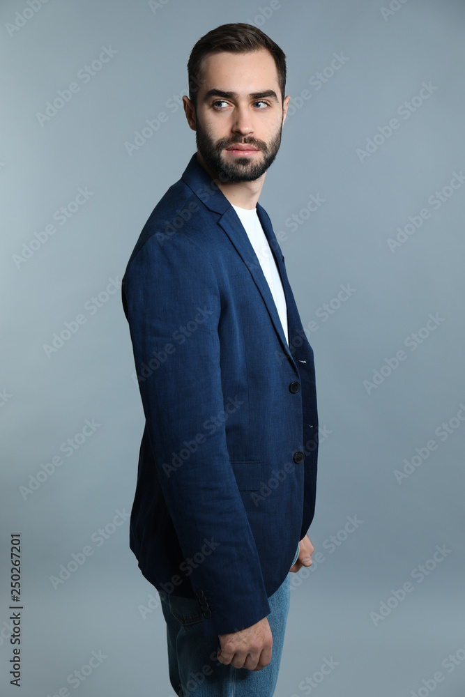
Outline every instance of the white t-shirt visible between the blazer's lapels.
{"label": "white t-shirt visible between the blazer's lapels", "polygon": [[[231,204],[232,205],[232,204]],[[289,334],[287,331],[287,307],[286,298],[284,296],[284,288],[282,287],[282,280],[280,277],[280,272],[276,266],[275,257],[270,249],[268,240],[264,233],[264,229],[261,227],[259,217],[257,215],[257,208],[239,208],[233,205],[234,210],[238,214],[239,220],[243,224],[247,237],[250,240],[250,244],[254,248],[255,254],[257,254],[257,259],[260,262],[261,270],[270,286],[271,295],[275,301],[277,314],[280,316],[282,328],[284,330],[284,336],[286,337],[287,343],[289,345]]]}

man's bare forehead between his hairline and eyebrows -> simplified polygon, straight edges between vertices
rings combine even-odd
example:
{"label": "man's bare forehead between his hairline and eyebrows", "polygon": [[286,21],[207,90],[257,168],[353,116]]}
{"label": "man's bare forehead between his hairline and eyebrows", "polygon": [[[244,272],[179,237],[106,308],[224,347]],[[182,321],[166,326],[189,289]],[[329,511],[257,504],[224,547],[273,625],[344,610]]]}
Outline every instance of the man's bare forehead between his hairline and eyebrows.
{"label": "man's bare forehead between his hairline and eyebrows", "polygon": [[208,54],[201,64],[200,93],[212,87],[224,92],[250,94],[264,89],[278,92],[275,59],[266,49],[250,53],[220,51]]}

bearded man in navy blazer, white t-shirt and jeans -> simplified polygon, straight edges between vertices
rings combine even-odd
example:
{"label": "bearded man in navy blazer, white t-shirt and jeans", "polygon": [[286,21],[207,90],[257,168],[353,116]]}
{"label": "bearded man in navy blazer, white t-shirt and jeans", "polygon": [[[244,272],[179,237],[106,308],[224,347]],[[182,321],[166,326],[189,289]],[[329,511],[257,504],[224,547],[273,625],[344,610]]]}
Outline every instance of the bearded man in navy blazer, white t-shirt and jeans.
{"label": "bearded man in navy blazer, white t-shirt and jeans", "polygon": [[197,153],[123,277],[146,417],[130,546],[160,592],[177,694],[271,696],[289,571],[312,563],[318,445],[313,351],[258,204],[285,56],[224,24],[188,73]]}

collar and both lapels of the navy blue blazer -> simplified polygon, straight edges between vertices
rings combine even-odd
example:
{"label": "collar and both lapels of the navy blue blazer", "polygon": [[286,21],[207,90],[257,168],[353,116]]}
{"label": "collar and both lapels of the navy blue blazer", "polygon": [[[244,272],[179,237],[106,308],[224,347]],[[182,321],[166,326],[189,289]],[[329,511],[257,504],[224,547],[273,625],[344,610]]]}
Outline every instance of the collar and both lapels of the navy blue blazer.
{"label": "collar and both lapels of the navy blue blazer", "polygon": [[[234,247],[236,247],[236,251],[241,256],[245,266],[247,266],[252,274],[254,282],[261,293],[261,297],[265,302],[266,308],[268,309],[270,319],[280,337],[283,351],[295,364],[295,360],[291,354],[289,345],[287,344],[286,337],[284,337],[280,316],[276,309],[273,294],[271,293],[270,286],[268,286],[268,282],[263,271],[261,270],[257,254],[254,252],[254,248],[250,243],[247,233],[245,233],[245,230],[243,229],[243,225],[241,220],[239,220],[236,211],[231,206],[228,199],[224,196],[218,185],[215,184],[215,181],[213,181],[206,169],[199,164],[197,160],[197,153],[192,155],[188,167],[186,167],[181,178],[183,181],[185,181],[188,187],[192,189],[197,197],[199,197],[206,208],[221,215],[220,219],[218,220],[218,224],[227,234]],[[259,203],[257,203],[257,215],[259,217],[259,221],[261,222],[261,227],[264,229],[264,233],[268,240],[268,244],[270,245],[273,256],[275,257],[277,268],[282,279],[284,297],[286,298],[287,304],[288,333],[289,339],[291,339],[291,337],[294,336],[294,328],[296,325],[296,317],[294,316],[296,312],[296,305],[291,287],[289,286],[289,281],[287,279],[287,273],[284,269],[284,257],[282,256],[280,246],[277,243],[277,239],[275,237],[275,233],[273,232],[273,227],[271,227],[268,215]]]}

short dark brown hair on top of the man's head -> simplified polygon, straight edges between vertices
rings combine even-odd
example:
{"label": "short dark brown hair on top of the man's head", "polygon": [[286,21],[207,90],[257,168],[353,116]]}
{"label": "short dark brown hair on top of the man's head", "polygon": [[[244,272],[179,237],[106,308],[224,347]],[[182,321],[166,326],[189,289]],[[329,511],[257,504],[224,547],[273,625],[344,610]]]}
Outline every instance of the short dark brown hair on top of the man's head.
{"label": "short dark brown hair on top of the man's head", "polygon": [[266,49],[275,59],[277,79],[280,84],[282,102],[286,89],[286,56],[269,36],[253,24],[221,24],[199,38],[190,52],[188,61],[189,98],[197,107],[197,92],[202,83],[202,61],[208,54],[220,51],[252,53]]}

